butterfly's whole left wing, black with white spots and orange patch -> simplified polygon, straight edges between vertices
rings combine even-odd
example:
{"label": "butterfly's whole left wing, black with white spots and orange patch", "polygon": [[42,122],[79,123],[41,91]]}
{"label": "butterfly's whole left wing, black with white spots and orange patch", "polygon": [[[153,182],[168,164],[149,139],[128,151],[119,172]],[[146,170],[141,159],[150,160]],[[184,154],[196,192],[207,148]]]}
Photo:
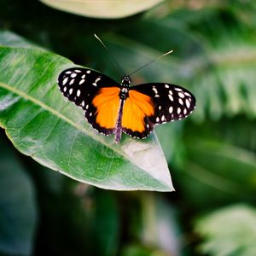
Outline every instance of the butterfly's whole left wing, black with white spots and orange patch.
{"label": "butterfly's whole left wing, black with white spots and orange patch", "polygon": [[84,109],[84,116],[97,131],[112,134],[119,109],[119,84],[89,68],[73,67],[61,72],[60,90]]}

